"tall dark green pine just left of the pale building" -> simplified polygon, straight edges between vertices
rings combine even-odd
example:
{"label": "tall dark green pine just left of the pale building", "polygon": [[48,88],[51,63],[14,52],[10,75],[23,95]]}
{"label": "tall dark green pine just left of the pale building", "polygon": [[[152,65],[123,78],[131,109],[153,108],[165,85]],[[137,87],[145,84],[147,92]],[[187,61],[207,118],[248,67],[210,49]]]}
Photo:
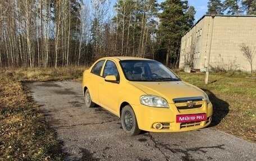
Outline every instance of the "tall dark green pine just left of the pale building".
{"label": "tall dark green pine just left of the pale building", "polygon": [[[159,49],[166,54],[166,65],[175,63],[179,56],[180,41],[194,19],[193,8],[188,12],[188,1],[167,0],[161,3],[162,13],[159,14],[160,26],[158,31]],[[190,20],[190,22],[189,22]],[[171,60],[170,60],[171,58]]]}

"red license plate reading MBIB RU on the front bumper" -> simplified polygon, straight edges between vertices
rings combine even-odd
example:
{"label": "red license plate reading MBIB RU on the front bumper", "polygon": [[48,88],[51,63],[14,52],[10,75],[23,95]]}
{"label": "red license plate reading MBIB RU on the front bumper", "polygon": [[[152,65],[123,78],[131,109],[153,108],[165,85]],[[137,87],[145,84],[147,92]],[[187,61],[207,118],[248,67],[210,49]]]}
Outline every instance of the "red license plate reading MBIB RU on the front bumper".
{"label": "red license plate reading MBIB RU on the front bumper", "polygon": [[176,122],[182,123],[182,122],[196,122],[196,121],[205,121],[206,113],[200,113],[200,114],[182,114],[176,116]]}

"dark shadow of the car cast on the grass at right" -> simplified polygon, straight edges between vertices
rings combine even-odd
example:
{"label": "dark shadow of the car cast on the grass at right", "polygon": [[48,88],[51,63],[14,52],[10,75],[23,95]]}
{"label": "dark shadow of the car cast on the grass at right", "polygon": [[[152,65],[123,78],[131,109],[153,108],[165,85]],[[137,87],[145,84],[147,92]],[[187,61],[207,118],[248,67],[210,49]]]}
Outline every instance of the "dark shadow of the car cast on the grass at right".
{"label": "dark shadow of the car cast on the grass at right", "polygon": [[207,89],[202,90],[207,93],[213,105],[212,123],[208,127],[216,126],[227,116],[230,105],[224,100],[217,98],[211,91]]}

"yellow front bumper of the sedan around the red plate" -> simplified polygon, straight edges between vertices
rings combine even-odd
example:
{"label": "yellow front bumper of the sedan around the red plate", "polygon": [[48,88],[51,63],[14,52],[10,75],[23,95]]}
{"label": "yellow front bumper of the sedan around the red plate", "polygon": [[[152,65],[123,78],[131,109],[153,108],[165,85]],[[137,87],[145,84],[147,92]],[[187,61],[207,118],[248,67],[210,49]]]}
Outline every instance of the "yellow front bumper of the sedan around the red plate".
{"label": "yellow front bumper of the sedan around the red plate", "polygon": [[[169,108],[148,107],[146,105],[132,105],[140,130],[150,132],[179,132],[196,130],[208,126],[212,121],[212,103],[206,102],[200,108],[178,109],[175,104]],[[205,121],[176,122],[177,115],[206,114]],[[159,125],[158,125],[159,124]],[[157,128],[156,125],[158,125]]]}

